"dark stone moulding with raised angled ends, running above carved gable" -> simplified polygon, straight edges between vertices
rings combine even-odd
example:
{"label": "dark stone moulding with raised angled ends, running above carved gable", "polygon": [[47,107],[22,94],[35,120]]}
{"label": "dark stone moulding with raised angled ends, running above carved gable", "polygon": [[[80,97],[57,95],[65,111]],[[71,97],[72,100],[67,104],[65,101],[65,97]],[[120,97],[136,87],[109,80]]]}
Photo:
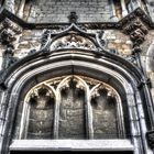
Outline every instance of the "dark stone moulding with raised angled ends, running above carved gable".
{"label": "dark stone moulding with raised angled ends, running above carved gable", "polygon": [[[7,9],[3,9],[0,13],[0,21],[3,21],[6,18],[10,19],[11,21],[15,22],[16,24],[19,24],[20,26],[22,26],[23,29],[28,29],[28,30],[42,30],[42,29],[62,29],[64,25],[69,25],[70,23],[29,23],[22,19],[20,19],[19,16],[14,15],[13,13],[11,13],[10,11],[8,11]],[[125,23],[128,23],[128,21],[131,21],[132,19],[141,19],[141,21],[143,23],[145,23],[148,29],[154,29],[154,23],[151,20],[151,18],[140,8],[135,9],[132,13],[128,14],[127,16],[124,16],[122,20],[120,20],[119,22],[87,22],[87,23],[77,23],[80,26],[85,26],[86,29],[90,29],[90,30],[96,30],[96,29],[100,29],[100,30],[106,30],[106,29],[117,29],[117,30],[121,30],[123,28],[123,25]]]}

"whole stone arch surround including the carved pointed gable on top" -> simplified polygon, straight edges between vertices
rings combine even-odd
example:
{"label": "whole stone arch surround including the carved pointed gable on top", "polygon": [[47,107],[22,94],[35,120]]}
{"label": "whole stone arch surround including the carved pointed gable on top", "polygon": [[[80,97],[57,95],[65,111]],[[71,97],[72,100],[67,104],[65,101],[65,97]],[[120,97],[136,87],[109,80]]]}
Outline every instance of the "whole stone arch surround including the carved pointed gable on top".
{"label": "whole stone arch surround including the carved pointed gable on top", "polygon": [[[102,33],[88,34],[74,24],[62,33],[46,32],[38,52],[31,52],[1,76],[0,85],[6,89],[1,92],[1,101],[7,102],[1,117],[3,154],[11,143],[13,121],[19,103],[23,101],[22,97],[44,80],[67,75],[87,76],[113,87],[120,95],[122,105],[127,107],[124,113],[128,117],[134,154],[151,154],[145,133],[153,119],[150,117],[151,123],[145,123],[141,92],[145,98],[148,98],[148,94],[146,87],[141,84],[142,73],[128,61],[106,51],[101,40]],[[62,37],[64,42],[58,40]],[[146,103],[148,100],[144,101]]]}

